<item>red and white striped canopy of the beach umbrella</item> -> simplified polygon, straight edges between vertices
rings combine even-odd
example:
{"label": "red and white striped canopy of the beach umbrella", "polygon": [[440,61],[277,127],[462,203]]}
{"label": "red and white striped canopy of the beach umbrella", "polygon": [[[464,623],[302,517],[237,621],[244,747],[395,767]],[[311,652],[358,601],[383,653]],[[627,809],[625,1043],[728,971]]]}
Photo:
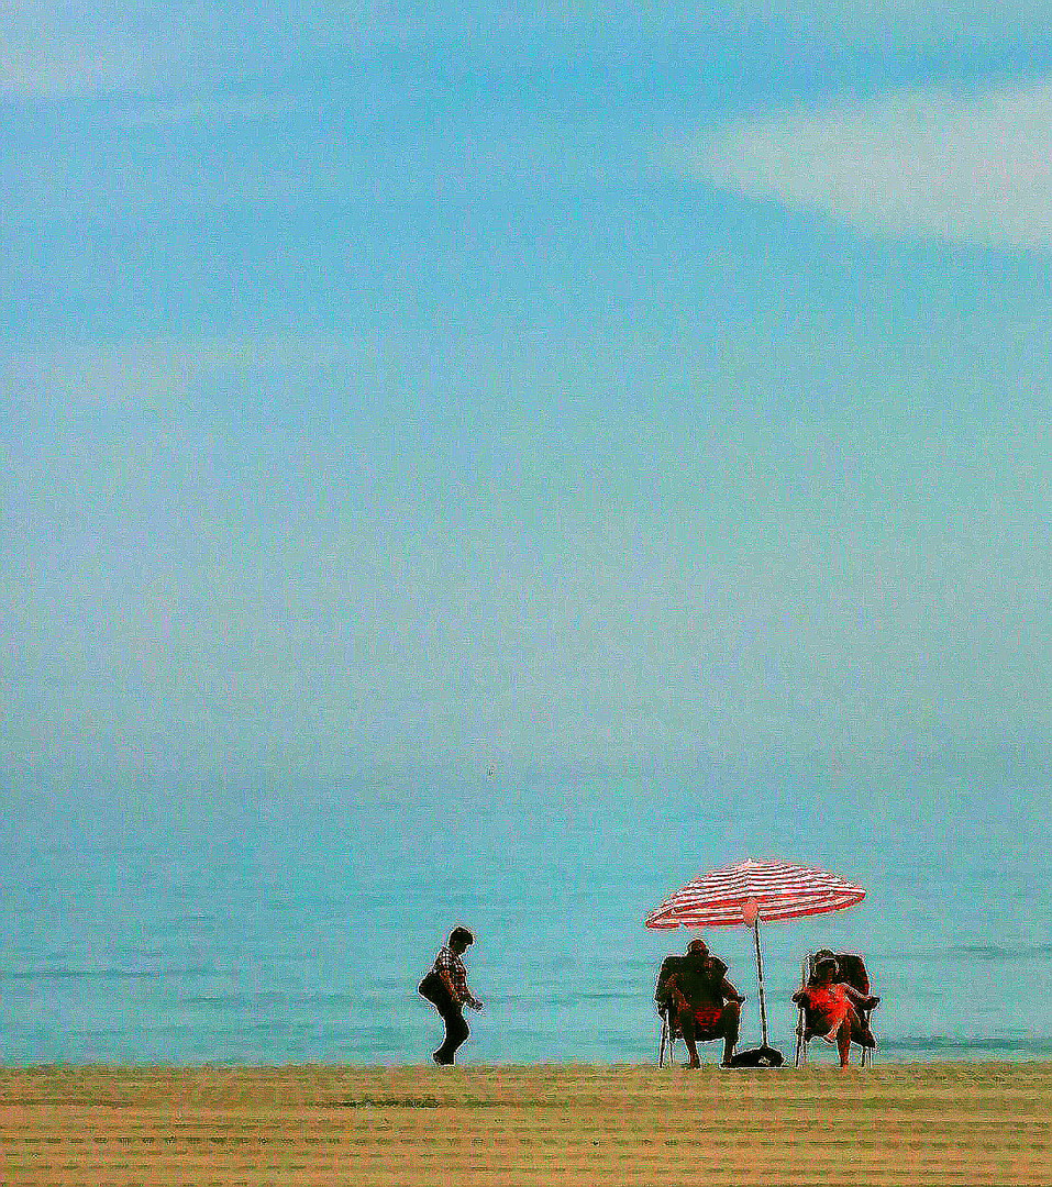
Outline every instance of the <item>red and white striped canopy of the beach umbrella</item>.
{"label": "red and white striped canopy of the beach umbrella", "polygon": [[723,927],[820,915],[853,907],[866,897],[862,887],[838,874],[790,862],[749,858],[691,878],[655,907],[647,927]]}

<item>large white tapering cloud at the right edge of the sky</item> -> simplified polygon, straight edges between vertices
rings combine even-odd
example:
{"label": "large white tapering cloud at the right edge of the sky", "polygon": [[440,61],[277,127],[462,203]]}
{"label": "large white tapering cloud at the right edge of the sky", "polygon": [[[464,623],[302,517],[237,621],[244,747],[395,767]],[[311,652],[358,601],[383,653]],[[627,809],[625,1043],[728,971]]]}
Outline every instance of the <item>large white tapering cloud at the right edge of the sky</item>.
{"label": "large white tapering cloud at the right edge of the sky", "polygon": [[1052,247],[1052,81],[749,119],[689,160],[695,177],[867,231]]}

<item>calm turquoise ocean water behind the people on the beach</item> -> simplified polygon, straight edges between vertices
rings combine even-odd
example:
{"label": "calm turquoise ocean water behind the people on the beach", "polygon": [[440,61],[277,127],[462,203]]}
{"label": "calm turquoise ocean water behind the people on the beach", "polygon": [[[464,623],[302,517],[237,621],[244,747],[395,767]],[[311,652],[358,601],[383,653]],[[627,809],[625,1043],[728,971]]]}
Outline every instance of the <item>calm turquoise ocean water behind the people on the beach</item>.
{"label": "calm turquoise ocean water behind the people on the beach", "polygon": [[[441,1023],[416,985],[455,923],[476,934],[487,1004],[463,1062],[649,1062],[654,973],[692,933],[642,918],[747,856],[868,890],[761,931],[787,1054],[800,959],[832,947],[867,958],[879,1059],[1052,1058],[1052,857],[1032,807],[816,802],[577,780],[23,820],[0,836],[0,1062],[423,1062]],[[752,932],[706,938],[748,997],[753,1046]]]}

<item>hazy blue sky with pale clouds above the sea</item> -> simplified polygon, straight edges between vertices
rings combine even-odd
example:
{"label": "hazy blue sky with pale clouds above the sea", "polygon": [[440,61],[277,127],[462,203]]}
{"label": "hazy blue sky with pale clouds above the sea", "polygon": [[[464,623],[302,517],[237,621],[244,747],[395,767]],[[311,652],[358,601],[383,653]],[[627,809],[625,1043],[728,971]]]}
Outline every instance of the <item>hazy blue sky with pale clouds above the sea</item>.
{"label": "hazy blue sky with pale clouds above the sea", "polygon": [[914,8],[6,5],[4,801],[1046,824],[1052,12]]}

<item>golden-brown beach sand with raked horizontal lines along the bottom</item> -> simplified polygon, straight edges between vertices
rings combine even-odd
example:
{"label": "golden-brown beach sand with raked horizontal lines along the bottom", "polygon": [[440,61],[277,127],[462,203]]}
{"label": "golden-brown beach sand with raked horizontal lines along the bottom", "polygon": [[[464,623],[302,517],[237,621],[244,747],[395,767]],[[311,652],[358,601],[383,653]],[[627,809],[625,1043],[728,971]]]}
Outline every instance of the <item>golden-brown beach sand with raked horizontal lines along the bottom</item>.
{"label": "golden-brown beach sand with raked horizontal lines along the bottom", "polygon": [[6,1187],[1052,1183],[1052,1064],[0,1071]]}

